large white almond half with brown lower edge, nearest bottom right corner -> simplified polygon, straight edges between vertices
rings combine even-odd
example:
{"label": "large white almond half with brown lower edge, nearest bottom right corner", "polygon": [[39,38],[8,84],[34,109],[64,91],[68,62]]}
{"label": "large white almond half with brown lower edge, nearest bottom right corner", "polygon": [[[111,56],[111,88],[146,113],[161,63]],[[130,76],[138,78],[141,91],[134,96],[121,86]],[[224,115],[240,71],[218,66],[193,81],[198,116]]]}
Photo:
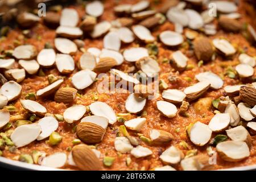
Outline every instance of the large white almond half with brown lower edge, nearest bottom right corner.
{"label": "large white almond half with brown lower edge, nearest bottom right corner", "polygon": [[245,142],[225,141],[216,146],[218,155],[228,162],[238,162],[250,156],[249,147]]}

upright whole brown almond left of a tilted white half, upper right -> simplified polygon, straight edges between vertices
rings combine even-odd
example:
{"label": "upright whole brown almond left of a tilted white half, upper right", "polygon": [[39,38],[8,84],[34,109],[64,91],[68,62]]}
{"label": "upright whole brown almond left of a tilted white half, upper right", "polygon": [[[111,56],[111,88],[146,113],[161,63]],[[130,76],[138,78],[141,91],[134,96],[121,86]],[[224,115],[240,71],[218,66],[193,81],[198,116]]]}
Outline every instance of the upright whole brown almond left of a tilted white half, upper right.
{"label": "upright whole brown almond left of a tilted white half, upper right", "polygon": [[212,59],[213,47],[208,38],[197,38],[194,42],[194,52],[198,60]]}

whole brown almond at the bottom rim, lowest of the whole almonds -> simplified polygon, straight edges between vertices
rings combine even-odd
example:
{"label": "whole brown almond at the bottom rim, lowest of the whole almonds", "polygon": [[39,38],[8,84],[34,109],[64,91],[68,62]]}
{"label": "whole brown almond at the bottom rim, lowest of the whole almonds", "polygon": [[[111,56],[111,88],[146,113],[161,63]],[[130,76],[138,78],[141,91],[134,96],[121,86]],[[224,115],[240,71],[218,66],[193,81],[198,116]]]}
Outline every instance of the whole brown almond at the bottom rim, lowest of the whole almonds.
{"label": "whole brown almond at the bottom rim, lowest of the whole almonds", "polygon": [[79,144],[72,148],[73,160],[76,166],[85,171],[98,171],[101,162],[93,150],[86,144]]}

